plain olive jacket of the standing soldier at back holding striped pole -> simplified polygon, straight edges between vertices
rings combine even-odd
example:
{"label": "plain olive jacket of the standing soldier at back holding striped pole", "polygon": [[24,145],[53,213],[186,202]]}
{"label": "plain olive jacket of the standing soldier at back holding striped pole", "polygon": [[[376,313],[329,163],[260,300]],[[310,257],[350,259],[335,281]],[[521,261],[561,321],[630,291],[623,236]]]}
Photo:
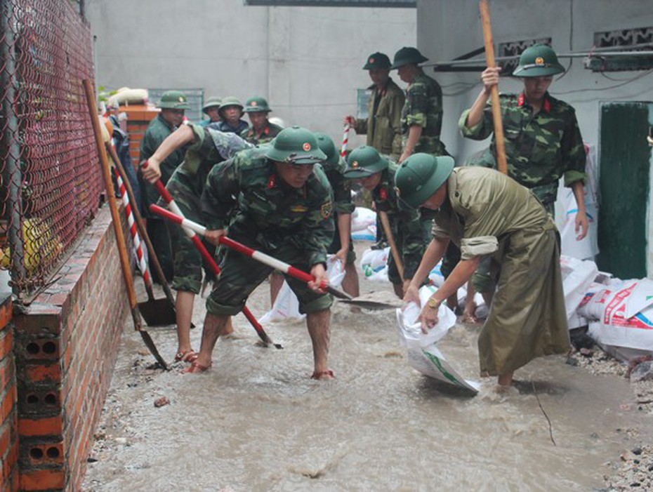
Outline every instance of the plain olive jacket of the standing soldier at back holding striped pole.
{"label": "plain olive jacket of the standing soldier at back holding striped pole", "polygon": [[[367,145],[397,161],[402,153],[402,107],[406,99],[404,91],[392,79],[388,79],[383,91],[374,85],[369,86],[368,90],[371,95],[367,102],[367,119],[356,120],[356,133],[367,133]],[[376,98],[379,99],[374,112]]]}

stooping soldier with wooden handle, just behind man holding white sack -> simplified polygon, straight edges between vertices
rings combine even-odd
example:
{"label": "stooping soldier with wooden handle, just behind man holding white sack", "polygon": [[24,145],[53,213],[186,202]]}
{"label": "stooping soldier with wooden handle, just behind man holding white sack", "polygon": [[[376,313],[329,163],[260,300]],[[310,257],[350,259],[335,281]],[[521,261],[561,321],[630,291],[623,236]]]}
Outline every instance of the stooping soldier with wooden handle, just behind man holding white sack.
{"label": "stooping soldier with wooden handle, just behind man holding white sack", "polygon": [[428,243],[421,214],[418,210],[404,210],[397,202],[395,173],[398,166],[381,156],[374,147],[364,145],[352,150],[347,159],[345,178],[358,179],[374,200],[376,211],[388,214],[390,229],[402,256],[404,278],[400,278],[395,258],[388,258],[388,279],[393,284],[395,294],[404,297],[404,290],[411,279]]}

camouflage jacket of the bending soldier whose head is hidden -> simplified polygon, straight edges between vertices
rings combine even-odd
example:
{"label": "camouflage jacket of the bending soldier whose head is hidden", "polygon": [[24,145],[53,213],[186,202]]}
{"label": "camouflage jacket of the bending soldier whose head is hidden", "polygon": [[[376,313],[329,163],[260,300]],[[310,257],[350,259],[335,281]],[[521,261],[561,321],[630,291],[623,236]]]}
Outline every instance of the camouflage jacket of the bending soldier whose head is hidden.
{"label": "camouflage jacket of the bending soldier whose head is hidden", "polygon": [[192,191],[199,197],[213,166],[231,159],[240,150],[251,149],[252,145],[235,133],[223,133],[199,124],[190,127],[193,131],[193,142],[185,147],[184,161],[176,173],[192,176]]}

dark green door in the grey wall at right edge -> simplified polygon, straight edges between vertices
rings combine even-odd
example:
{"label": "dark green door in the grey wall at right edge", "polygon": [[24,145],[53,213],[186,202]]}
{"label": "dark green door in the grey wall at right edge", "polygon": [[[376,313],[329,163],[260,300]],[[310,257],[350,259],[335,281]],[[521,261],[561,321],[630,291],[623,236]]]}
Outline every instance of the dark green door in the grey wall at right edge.
{"label": "dark green door in the grey wall at right edge", "polygon": [[647,276],[651,107],[647,102],[601,107],[597,264],[620,279]]}

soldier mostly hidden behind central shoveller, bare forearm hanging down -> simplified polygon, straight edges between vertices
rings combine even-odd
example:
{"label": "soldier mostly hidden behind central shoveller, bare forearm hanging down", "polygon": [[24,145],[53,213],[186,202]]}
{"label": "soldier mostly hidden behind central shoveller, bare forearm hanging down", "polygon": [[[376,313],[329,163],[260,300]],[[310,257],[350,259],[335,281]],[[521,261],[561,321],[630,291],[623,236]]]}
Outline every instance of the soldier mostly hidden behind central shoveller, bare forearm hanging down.
{"label": "soldier mostly hidden behind central shoveller, bare forearm hanging down", "polygon": [[360,288],[358,286],[358,272],[354,263],[356,253],[354,253],[354,244],[351,238],[354,204],[352,204],[351,187],[345,180],[347,164],[340,159],[336,145],[329,135],[316,132],[315,138],[317,138],[319,149],[326,155],[326,161],[324,161],[322,167],[326,179],[329,180],[329,184],[334,190],[336,234],[334,234],[334,240],[326,249],[326,252],[336,255],[336,258],[341,261],[345,268],[343,291],[356,298],[360,295]]}

